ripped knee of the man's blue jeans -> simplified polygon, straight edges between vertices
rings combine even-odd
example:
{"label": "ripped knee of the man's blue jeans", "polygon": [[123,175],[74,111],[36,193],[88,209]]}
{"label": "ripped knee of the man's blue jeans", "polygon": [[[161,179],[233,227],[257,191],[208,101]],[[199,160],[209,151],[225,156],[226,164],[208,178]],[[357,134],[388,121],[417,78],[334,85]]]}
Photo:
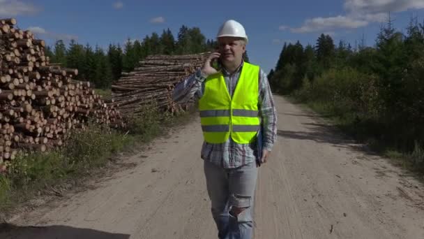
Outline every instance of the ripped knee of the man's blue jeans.
{"label": "ripped knee of the man's blue jeans", "polygon": [[251,196],[232,194],[229,200],[229,214],[236,217],[239,222],[250,222],[252,220],[250,208],[252,207]]}

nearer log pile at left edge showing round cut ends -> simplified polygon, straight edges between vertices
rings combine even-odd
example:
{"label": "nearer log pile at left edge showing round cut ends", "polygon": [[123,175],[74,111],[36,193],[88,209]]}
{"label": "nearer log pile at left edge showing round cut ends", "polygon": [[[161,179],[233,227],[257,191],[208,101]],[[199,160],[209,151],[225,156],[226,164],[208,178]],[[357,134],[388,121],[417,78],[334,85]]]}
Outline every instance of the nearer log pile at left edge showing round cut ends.
{"label": "nearer log pile at left edge showing round cut ends", "polygon": [[62,145],[67,131],[84,129],[89,119],[122,124],[89,82],[73,80],[77,69],[50,64],[45,42],[15,24],[0,20],[0,166],[18,150]]}

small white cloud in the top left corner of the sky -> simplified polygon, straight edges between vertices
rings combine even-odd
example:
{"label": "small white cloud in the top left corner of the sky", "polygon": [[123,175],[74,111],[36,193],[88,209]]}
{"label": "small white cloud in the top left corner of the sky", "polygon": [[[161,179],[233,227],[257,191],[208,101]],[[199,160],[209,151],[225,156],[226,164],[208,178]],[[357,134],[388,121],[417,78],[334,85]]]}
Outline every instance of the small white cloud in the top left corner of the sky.
{"label": "small white cloud in the top left corner of the sky", "polygon": [[24,3],[19,0],[0,0],[0,16],[15,17],[17,15],[31,15],[38,13],[39,8],[31,3]]}

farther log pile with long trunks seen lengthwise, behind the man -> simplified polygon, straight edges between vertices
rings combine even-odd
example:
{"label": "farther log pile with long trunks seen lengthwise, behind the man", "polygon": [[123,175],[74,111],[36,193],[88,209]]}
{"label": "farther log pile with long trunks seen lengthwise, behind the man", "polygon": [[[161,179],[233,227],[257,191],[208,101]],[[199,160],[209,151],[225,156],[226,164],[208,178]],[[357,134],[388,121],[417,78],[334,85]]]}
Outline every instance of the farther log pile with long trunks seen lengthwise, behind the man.
{"label": "farther log pile with long trunks seen lengthwise, behind the man", "polygon": [[140,113],[148,103],[171,113],[186,110],[190,104],[179,105],[172,101],[175,85],[201,67],[209,52],[196,55],[152,55],[139,61],[139,67],[112,85],[112,102],[123,115]]}

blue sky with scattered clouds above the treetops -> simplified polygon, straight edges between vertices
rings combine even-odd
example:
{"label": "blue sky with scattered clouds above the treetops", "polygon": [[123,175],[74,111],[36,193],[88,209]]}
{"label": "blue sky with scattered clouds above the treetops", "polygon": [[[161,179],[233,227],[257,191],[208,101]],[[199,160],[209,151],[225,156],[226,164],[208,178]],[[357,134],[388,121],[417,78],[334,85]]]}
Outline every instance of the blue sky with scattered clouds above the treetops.
{"label": "blue sky with scattered clouds above the treetops", "polygon": [[213,39],[223,22],[236,20],[248,35],[250,62],[266,72],[275,67],[284,43],[315,45],[323,33],[336,45],[344,40],[354,47],[365,39],[373,46],[388,13],[395,29],[406,33],[411,16],[424,22],[424,0],[0,0],[0,17],[14,17],[17,27],[49,45],[75,39],[106,49],[168,28],[176,37],[183,24]]}

